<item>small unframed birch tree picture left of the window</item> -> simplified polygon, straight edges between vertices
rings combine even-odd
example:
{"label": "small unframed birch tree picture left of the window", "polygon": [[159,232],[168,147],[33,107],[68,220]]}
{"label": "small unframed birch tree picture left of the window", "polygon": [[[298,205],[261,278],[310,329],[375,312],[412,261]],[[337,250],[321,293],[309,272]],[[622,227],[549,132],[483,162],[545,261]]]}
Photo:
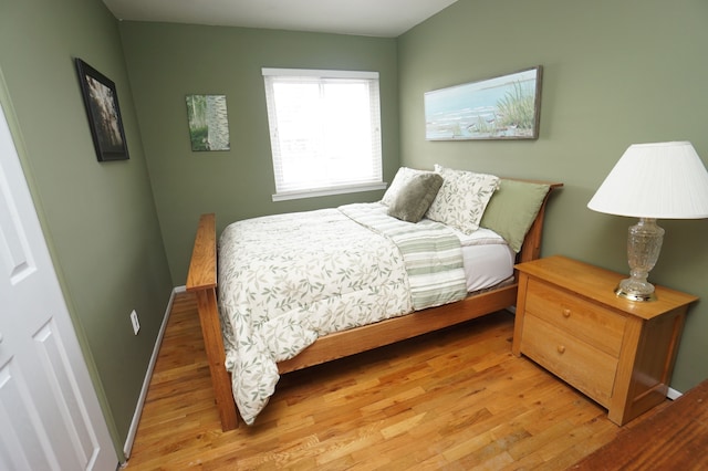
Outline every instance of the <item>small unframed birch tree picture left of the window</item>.
{"label": "small unframed birch tree picture left of the window", "polygon": [[187,95],[191,150],[229,150],[226,95]]}

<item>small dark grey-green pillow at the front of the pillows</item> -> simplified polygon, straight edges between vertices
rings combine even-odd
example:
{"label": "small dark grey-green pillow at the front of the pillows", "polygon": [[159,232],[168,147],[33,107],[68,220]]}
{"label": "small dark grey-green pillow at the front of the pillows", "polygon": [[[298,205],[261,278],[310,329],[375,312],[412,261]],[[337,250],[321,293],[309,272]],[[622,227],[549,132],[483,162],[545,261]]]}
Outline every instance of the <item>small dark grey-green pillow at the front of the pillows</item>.
{"label": "small dark grey-green pillow at the front of the pillows", "polygon": [[388,216],[402,221],[418,222],[433,203],[441,186],[442,177],[438,174],[415,175],[392,199],[388,205]]}

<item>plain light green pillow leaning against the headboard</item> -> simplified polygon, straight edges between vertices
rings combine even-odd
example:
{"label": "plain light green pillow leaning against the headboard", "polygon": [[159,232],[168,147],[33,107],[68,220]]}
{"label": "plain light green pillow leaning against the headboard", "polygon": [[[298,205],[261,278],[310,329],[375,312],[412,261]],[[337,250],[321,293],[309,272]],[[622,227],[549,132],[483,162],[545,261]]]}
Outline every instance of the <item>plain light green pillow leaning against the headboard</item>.
{"label": "plain light green pillow leaning against the headboard", "polygon": [[550,188],[549,185],[501,179],[479,224],[504,238],[519,253]]}

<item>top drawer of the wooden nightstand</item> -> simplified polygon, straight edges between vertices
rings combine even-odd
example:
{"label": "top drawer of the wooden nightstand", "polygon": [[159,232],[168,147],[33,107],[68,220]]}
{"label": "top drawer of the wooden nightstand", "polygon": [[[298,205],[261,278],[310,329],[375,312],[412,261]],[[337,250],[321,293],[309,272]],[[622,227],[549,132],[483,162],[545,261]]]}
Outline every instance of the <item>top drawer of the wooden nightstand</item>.
{"label": "top drawer of the wooden nightstand", "polygon": [[620,356],[624,315],[539,280],[529,280],[525,308],[615,358]]}

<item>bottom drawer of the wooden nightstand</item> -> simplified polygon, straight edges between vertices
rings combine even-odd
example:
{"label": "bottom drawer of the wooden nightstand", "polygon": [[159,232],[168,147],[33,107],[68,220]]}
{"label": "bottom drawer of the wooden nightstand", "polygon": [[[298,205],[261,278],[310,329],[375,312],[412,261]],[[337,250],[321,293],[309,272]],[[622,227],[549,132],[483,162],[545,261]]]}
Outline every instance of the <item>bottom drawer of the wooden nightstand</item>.
{"label": "bottom drawer of the wooden nightstand", "polygon": [[562,329],[527,313],[523,353],[549,371],[608,407],[617,358],[569,337]]}

